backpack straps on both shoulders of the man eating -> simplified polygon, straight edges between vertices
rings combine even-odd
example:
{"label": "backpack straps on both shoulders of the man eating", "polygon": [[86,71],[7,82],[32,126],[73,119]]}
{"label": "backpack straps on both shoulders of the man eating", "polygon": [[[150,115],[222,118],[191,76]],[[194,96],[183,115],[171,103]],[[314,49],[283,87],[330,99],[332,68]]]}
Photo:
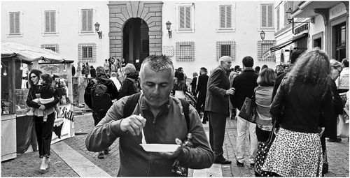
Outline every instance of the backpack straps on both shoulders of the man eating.
{"label": "backpack straps on both shoulders of the man eating", "polygon": [[[132,112],[134,112],[134,108],[137,105],[137,101],[139,101],[141,93],[133,94],[129,98],[127,98],[127,102],[124,106],[124,118],[130,117]],[[190,103],[188,101],[180,98],[181,105],[183,106],[183,112],[185,112],[186,124],[188,132],[190,132]]]}

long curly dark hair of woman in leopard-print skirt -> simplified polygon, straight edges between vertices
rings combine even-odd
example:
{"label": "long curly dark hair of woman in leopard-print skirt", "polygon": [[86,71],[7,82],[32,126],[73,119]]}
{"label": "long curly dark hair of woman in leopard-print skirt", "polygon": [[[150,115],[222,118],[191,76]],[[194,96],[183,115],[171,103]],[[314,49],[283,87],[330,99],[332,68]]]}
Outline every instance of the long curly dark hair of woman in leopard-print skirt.
{"label": "long curly dark hair of woman in leopard-print skirt", "polygon": [[286,75],[288,91],[297,81],[303,84],[314,84],[318,88],[318,94],[323,98],[330,86],[330,60],[327,54],[316,47],[304,52],[295,62],[290,72]]}

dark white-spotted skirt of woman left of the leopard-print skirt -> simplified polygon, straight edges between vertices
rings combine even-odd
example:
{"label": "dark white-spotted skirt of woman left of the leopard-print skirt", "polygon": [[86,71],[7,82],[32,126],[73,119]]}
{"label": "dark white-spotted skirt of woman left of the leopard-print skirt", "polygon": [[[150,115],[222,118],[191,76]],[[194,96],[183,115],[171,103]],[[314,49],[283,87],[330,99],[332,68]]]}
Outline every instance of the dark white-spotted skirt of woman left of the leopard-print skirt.
{"label": "dark white-spotted skirt of woman left of the leopard-print skirt", "polygon": [[[275,125],[276,122],[274,122],[274,126]],[[254,171],[262,177],[273,177],[275,175],[273,172],[267,172],[261,169],[262,165],[264,165],[265,163],[267,154],[269,153],[269,147],[271,147],[271,144],[274,141],[274,126],[272,126],[272,130],[269,133],[269,139],[267,140],[267,142],[258,142],[258,151],[256,151]]]}

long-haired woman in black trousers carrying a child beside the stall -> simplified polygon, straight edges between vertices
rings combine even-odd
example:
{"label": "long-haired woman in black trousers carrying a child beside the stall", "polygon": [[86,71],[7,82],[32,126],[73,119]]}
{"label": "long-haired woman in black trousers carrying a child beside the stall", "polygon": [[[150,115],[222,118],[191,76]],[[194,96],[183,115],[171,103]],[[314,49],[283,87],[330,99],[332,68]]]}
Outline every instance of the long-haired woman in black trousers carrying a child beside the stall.
{"label": "long-haired woman in black trousers carrying a child beside the stall", "polygon": [[[50,75],[48,76],[50,77]],[[38,153],[39,158],[41,158],[40,170],[46,170],[50,167],[50,146],[52,140],[53,124],[55,122],[55,105],[59,103],[58,92],[56,89],[52,88],[50,84],[44,82],[45,87],[49,88],[48,91],[50,91],[50,95],[52,95],[53,100],[45,104],[34,102],[33,100],[35,98],[40,97],[37,97],[36,95],[40,94],[41,90],[43,89],[43,86],[38,84],[41,77],[41,71],[33,69],[29,73],[29,77],[30,88],[26,103],[29,107],[36,108],[33,117],[35,123],[36,139],[38,140]],[[38,114],[39,111],[43,112],[43,110],[45,110],[47,114],[46,121],[44,121],[43,115],[39,116]]]}

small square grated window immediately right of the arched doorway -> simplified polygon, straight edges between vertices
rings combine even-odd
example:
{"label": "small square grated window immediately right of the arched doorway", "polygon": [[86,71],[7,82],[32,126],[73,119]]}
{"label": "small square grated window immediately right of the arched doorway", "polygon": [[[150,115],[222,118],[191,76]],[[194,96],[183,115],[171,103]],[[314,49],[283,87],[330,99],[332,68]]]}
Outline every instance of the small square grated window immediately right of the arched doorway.
{"label": "small square grated window immediately right of the arched doorway", "polygon": [[176,61],[179,61],[179,62],[195,61],[195,42],[193,41],[176,42]]}

